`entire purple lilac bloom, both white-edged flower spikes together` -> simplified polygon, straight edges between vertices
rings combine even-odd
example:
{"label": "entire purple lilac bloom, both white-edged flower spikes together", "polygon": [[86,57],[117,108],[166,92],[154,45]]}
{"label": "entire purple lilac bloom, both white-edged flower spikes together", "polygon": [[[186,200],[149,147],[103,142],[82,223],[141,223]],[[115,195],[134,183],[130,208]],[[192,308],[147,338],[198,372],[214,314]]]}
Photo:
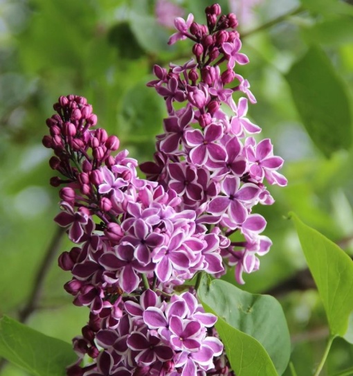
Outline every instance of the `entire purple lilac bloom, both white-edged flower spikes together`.
{"label": "entire purple lilac bloom, both white-edged flower spikes together", "polygon": [[[46,121],[53,186],[62,186],[55,222],[75,243],[59,265],[71,271],[65,289],[89,307],[69,376],[234,375],[214,328],[217,317],[197,300],[201,274],[235,265],[235,278],[259,268],[271,247],[256,204],[271,205],[264,185],[285,186],[283,160],[245,116],[255,103],[234,14],[206,8],[207,24],[178,17],[170,44],[194,42],[194,58],[148,83],[165,100],[168,118],[156,138],[154,162],[119,149],[116,136],[93,127],[97,116],[80,96],[62,96]],[[233,93],[240,94],[236,104]],[[245,96],[242,96],[245,94]],[[239,233],[242,241],[233,241]],[[192,283],[190,283],[192,280]],[[185,285],[185,282],[188,284]],[[179,294],[178,292],[183,292]]]}

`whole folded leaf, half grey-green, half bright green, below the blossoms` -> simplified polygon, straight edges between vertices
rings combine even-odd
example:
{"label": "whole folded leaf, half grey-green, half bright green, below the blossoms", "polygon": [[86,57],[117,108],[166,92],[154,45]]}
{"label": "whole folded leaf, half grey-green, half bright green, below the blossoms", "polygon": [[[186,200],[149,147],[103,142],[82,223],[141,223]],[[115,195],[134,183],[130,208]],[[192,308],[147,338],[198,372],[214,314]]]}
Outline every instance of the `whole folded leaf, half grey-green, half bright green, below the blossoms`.
{"label": "whole folded leaf, half grey-green, half bright green, below the blossoms", "polygon": [[[228,357],[230,353],[227,346],[231,346],[230,362],[237,375],[284,373],[291,344],[282,307],[273,296],[250,294],[224,280],[212,280],[207,285],[206,278],[203,278],[198,294],[203,305],[210,307],[219,317],[219,335],[224,341]],[[232,335],[228,334],[229,325],[237,340],[230,340]],[[228,338],[230,343],[227,344]],[[257,355],[256,361],[249,365],[251,368],[244,368],[244,364],[253,359],[254,354]],[[273,370],[265,373],[263,368]]]}

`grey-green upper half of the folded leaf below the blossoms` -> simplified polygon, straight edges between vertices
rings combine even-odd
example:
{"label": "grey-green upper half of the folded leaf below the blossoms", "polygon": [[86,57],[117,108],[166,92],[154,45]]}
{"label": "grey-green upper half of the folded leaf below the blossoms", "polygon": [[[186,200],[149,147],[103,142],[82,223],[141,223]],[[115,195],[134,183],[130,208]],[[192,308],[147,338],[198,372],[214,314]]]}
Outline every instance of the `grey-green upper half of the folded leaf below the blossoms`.
{"label": "grey-green upper half of the folded leaf below the blossoms", "polygon": [[[203,283],[198,290],[201,301],[208,305],[221,320],[261,343],[272,359],[275,369],[282,375],[287,368],[291,345],[287,322],[280,303],[273,296],[250,294],[224,280],[212,280],[210,285],[207,285],[206,279],[203,278]],[[227,331],[226,328],[224,330]],[[237,337],[242,336],[237,334]],[[221,339],[223,340],[222,335]],[[239,341],[242,342],[243,339]],[[242,364],[242,357],[252,356],[251,354],[257,351],[259,354],[262,353],[258,346],[248,339],[246,339],[246,346],[250,348],[244,350],[244,353],[240,352],[240,347],[245,346],[244,343],[235,343],[233,346],[239,346],[237,353],[233,352],[234,359],[237,358],[239,366]],[[250,354],[246,355],[245,352],[250,352]],[[265,358],[264,355],[259,355],[257,367],[268,363]],[[235,372],[238,373],[239,370]]]}

